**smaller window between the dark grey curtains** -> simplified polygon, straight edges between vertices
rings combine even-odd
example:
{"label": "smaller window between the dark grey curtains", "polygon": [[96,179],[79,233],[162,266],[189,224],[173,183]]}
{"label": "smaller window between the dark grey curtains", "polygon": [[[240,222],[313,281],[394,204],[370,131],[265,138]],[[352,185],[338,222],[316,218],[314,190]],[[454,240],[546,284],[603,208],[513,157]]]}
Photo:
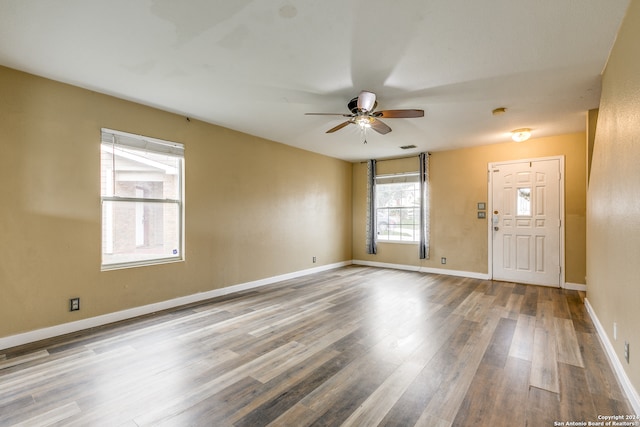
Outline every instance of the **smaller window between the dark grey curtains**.
{"label": "smaller window between the dark grey curtains", "polygon": [[376,177],[376,232],[379,241],[420,241],[418,173]]}

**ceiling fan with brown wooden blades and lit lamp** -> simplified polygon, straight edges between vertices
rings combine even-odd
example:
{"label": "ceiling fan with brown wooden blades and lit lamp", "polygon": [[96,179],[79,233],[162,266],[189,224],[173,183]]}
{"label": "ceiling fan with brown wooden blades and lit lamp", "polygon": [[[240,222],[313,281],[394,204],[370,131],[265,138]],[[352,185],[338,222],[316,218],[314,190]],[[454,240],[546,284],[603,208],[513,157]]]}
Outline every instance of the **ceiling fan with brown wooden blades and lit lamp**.
{"label": "ceiling fan with brown wooden blades and lit lamp", "polygon": [[[326,133],[333,133],[349,124],[356,124],[362,131],[368,128],[385,135],[391,132],[391,128],[387,126],[380,118],[383,119],[400,119],[424,117],[424,110],[382,110],[374,111],[378,103],[376,102],[376,94],[373,92],[362,91],[357,98],[353,98],[347,104],[351,114],[342,113],[305,113],[310,116],[343,116],[349,117],[346,122],[340,123],[338,126],[329,129]],[[366,140],[365,140],[366,142]]]}

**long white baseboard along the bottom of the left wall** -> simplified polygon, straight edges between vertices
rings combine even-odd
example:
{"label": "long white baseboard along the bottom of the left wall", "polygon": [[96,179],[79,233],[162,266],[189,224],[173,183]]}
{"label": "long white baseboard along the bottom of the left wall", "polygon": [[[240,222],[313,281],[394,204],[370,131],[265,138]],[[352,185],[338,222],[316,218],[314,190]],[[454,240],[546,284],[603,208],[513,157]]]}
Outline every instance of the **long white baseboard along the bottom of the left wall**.
{"label": "long white baseboard along the bottom of the left wall", "polygon": [[211,291],[200,292],[197,294],[186,295],[183,297],[174,298],[167,301],[161,301],[154,304],[143,305],[140,307],[134,307],[127,310],[117,311],[114,313],[107,313],[101,316],[90,317],[88,319],[77,320],[75,322],[63,323],[60,325],[50,326],[48,328],[36,329],[34,331],[24,332],[21,334],[10,335],[8,337],[0,337],[0,350],[11,347],[16,347],[23,344],[28,344],[48,338],[57,337],[60,335],[70,334],[78,332],[84,329],[95,328],[96,326],[103,326],[109,323],[119,322],[121,320],[127,320],[145,314],[151,314],[162,310],[167,310],[174,307],[179,307],[186,304],[192,304],[207,299],[228,295],[233,292],[245,291],[248,289],[258,288],[260,286],[266,286],[273,283],[281,282],[283,280],[295,279],[297,277],[307,276],[309,274],[320,273],[326,270],[332,270],[334,268],[344,267],[351,265],[351,261],[339,262],[335,264],[322,265],[319,267],[309,268],[306,270],[295,271],[292,273],[281,274],[279,276],[268,277],[265,279],[254,280],[252,282],[241,283],[233,286],[228,286],[221,289],[213,289]]}

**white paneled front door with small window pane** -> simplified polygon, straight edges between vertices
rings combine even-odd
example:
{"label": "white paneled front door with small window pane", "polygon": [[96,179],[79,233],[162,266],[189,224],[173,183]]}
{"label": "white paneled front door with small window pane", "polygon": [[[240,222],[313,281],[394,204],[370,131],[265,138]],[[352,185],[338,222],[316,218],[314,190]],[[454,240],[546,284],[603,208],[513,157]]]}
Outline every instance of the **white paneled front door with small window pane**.
{"label": "white paneled front door with small window pane", "polygon": [[560,287],[561,160],[489,165],[493,279]]}

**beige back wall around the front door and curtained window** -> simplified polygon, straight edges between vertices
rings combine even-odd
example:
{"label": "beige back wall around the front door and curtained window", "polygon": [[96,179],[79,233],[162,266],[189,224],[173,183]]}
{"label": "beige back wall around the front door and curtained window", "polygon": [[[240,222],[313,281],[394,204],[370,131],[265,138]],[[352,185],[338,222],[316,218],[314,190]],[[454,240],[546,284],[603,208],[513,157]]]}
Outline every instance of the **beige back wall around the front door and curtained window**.
{"label": "beige back wall around the front door and curtained window", "polygon": [[[353,168],[353,257],[356,260],[487,273],[486,220],[477,219],[477,203],[487,202],[490,162],[565,156],[566,277],[585,282],[586,135],[576,133],[534,138],[524,143],[436,152],[430,158],[431,256],[418,258],[416,245],[378,243],[378,253],[365,251],[366,164]],[[417,170],[418,158],[379,161],[378,172]],[[440,264],[446,257],[447,264]]]}

